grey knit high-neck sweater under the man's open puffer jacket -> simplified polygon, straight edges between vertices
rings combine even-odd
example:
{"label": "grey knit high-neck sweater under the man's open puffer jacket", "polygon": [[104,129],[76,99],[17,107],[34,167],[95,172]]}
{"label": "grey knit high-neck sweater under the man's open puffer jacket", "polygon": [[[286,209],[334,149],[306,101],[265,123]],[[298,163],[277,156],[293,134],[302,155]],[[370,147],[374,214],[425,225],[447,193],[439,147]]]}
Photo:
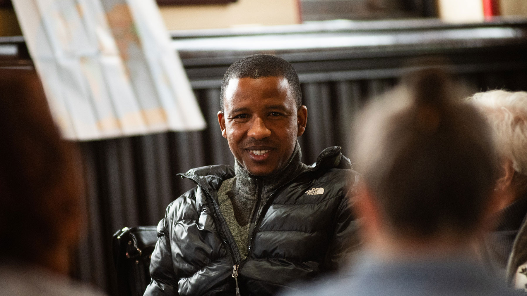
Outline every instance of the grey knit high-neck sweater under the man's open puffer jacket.
{"label": "grey knit high-neck sweater under the man's open puffer jacket", "polygon": [[282,183],[307,170],[307,166],[300,161],[301,157],[302,152],[297,141],[291,157],[278,172],[265,177],[252,176],[236,161],[236,176],[222,182],[218,190],[220,210],[242,259],[247,257],[249,231],[271,193]]}

